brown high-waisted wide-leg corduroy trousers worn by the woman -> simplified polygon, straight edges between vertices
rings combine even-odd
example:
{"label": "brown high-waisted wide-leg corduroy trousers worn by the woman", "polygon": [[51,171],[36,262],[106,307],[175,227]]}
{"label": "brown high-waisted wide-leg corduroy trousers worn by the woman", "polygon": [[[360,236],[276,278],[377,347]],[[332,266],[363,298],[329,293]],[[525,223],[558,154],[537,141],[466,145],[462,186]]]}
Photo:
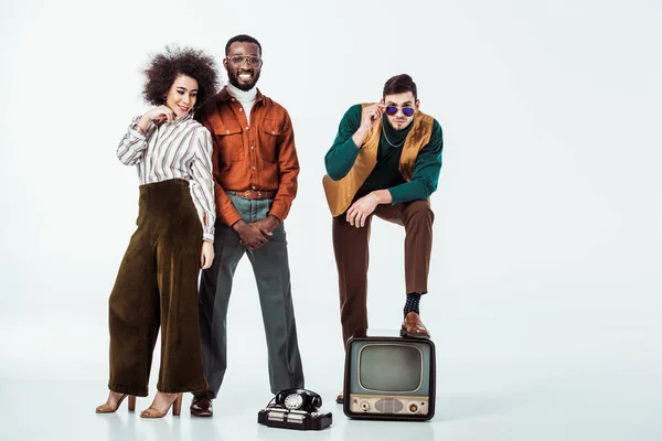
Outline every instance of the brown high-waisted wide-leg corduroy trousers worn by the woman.
{"label": "brown high-waisted wide-leg corduroy trousers worn by the woman", "polygon": [[146,397],[161,327],[157,389],[207,387],[197,323],[202,226],[189,182],[140,185],[138,228],[124,256],[110,306],[110,390]]}

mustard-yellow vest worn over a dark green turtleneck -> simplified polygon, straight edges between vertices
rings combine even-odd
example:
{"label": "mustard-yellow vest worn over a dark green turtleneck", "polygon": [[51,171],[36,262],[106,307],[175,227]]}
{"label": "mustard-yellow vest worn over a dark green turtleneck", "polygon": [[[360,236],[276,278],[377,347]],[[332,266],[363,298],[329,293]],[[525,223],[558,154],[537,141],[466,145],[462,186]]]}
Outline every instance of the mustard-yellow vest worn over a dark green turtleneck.
{"label": "mustard-yellow vest worn over a dark green turtleneck", "polygon": [[[372,103],[364,103],[362,107],[371,106]],[[417,111],[414,118],[413,127],[403,146],[403,153],[399,160],[399,172],[409,182],[414,172],[414,164],[418,152],[430,141],[433,135],[434,118]],[[382,135],[382,119],[367,133],[361,151],[354,161],[352,169],[342,179],[333,181],[328,174],[322,179],[327,203],[331,214],[335,217],[345,212],[352,204],[361,185],[365,182],[370,173],[377,163],[377,149],[380,148],[380,137]]]}

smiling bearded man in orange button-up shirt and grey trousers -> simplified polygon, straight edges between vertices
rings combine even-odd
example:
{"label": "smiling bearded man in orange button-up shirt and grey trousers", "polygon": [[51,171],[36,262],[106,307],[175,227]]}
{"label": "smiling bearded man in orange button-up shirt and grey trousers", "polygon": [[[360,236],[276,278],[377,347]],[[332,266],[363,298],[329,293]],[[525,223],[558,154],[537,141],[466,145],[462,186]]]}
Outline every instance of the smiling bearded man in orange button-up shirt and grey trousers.
{"label": "smiling bearded man in orange button-up shirt and grey trousers", "polygon": [[225,45],[228,84],[196,114],[212,132],[216,200],[215,258],[200,280],[200,333],[207,390],[194,394],[191,415],[212,415],[227,366],[226,315],[235,270],[253,266],[267,337],[271,392],[303,388],[282,222],[297,195],[299,161],[287,110],[256,87],[261,45],[236,35]]}

